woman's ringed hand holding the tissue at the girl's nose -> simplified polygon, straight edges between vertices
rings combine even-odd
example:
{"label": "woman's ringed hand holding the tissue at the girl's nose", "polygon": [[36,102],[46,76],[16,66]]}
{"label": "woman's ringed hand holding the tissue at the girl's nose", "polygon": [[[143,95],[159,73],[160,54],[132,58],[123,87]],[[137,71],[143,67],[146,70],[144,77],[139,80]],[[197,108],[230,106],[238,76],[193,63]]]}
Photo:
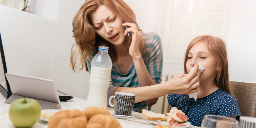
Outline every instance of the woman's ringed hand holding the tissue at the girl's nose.
{"label": "woman's ringed hand holding the tissue at the girl's nose", "polygon": [[[198,69],[196,65],[195,69]],[[198,91],[199,70],[193,70],[189,74],[180,74],[166,81],[165,85],[169,88],[169,94],[190,94]],[[193,86],[194,85],[194,86]],[[195,87],[195,88],[194,88]]]}

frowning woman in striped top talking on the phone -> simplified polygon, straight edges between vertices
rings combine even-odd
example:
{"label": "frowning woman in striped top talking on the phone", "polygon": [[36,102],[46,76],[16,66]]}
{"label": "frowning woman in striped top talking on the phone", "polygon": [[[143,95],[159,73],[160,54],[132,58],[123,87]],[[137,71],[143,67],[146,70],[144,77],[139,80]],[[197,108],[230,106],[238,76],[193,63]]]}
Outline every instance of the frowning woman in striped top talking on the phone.
{"label": "frowning woman in striped top talking on the phone", "polygon": [[[147,105],[155,104],[157,97],[170,94],[163,93],[162,89],[161,93],[155,92],[149,86],[161,83],[163,56],[160,38],[155,33],[143,33],[138,28],[135,13],[123,0],[85,0],[73,19],[73,33],[76,43],[71,49],[71,65],[74,71],[85,67],[90,72],[90,63],[97,48],[100,45],[109,47],[113,67],[108,99],[117,91],[135,93],[134,111],[141,112]],[[186,77],[186,82],[182,81],[184,78],[177,78],[182,83],[175,86],[184,87],[178,90],[179,93],[191,91],[192,84],[186,84],[190,84],[188,80],[193,78],[196,83],[198,76],[195,71]],[[145,92],[149,89],[155,94],[149,96]]]}

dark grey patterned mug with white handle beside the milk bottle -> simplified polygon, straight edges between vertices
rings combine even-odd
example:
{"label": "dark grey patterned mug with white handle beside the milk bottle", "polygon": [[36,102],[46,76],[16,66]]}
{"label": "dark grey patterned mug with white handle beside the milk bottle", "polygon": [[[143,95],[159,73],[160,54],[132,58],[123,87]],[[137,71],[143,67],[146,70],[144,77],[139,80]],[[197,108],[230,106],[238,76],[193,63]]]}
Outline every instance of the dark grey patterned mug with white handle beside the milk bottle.
{"label": "dark grey patterned mug with white handle beside the milk bottle", "polygon": [[[111,103],[112,98],[114,99],[114,105]],[[114,107],[116,115],[131,116],[133,112],[135,101],[135,94],[125,92],[115,92],[114,96],[110,96],[109,105]]]}

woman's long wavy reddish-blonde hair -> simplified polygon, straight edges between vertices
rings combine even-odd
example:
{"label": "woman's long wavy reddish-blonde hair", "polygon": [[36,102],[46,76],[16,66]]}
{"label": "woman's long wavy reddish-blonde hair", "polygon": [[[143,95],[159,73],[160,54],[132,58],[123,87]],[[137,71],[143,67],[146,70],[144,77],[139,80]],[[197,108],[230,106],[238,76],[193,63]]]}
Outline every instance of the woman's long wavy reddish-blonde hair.
{"label": "woman's long wavy reddish-blonde hair", "polygon": [[[81,8],[73,19],[73,37],[75,43],[71,48],[71,67],[73,71],[82,70],[86,67],[86,60],[93,56],[100,45],[109,47],[109,55],[112,62],[116,61],[116,51],[113,45],[100,37],[91,22],[91,15],[101,6],[105,5],[115,15],[120,17],[123,22],[135,23],[137,28],[136,16],[133,10],[123,0],[85,0]],[[140,29],[139,29],[140,30]],[[141,31],[141,30],[140,30]],[[127,49],[130,47],[131,39],[126,36],[123,45]],[[141,38],[140,43],[144,40]]]}

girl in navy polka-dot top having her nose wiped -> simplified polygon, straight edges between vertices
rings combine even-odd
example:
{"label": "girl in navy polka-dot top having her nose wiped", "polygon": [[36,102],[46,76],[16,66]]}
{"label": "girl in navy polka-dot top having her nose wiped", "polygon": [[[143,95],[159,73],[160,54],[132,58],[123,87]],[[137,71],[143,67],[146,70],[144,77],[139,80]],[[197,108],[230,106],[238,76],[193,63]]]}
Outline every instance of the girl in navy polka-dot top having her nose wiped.
{"label": "girl in navy polka-dot top having her nose wiped", "polygon": [[194,38],[185,54],[184,70],[189,73],[194,65],[204,67],[200,73],[197,100],[188,95],[168,95],[171,107],[182,110],[194,126],[200,126],[204,115],[241,116],[238,103],[232,96],[229,83],[228,57],[223,40],[212,36]]}

